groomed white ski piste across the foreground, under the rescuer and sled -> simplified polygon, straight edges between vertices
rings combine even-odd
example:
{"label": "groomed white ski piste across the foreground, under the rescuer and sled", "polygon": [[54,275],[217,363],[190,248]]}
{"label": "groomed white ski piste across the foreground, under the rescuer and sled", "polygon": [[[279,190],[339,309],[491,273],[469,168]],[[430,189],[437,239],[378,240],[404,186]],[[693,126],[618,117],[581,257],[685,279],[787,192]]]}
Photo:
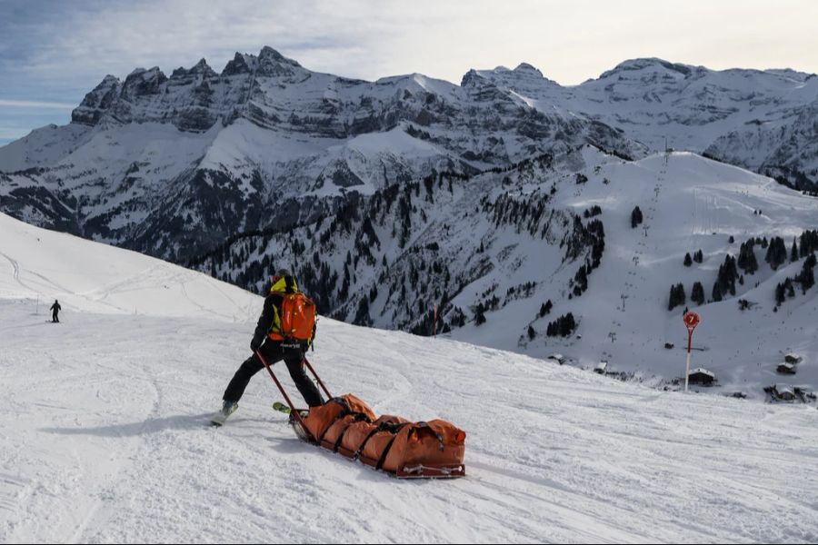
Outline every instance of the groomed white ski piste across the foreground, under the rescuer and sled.
{"label": "groomed white ski piste across the foreground, under the rescuer and sled", "polygon": [[0,233],[2,542],[818,541],[814,407],[322,319],[331,391],[468,433],[466,478],[398,481],[298,441],[264,373],[207,425],[261,298],[3,215]]}

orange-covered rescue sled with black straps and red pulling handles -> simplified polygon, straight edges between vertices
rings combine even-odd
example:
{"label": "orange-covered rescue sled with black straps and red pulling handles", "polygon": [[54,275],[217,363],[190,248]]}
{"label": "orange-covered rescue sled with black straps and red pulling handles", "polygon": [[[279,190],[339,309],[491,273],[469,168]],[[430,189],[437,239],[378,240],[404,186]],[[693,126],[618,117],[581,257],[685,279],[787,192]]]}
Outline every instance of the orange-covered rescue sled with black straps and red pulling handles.
{"label": "orange-covered rescue sled with black straps and red pulling handles", "polygon": [[465,476],[465,431],[444,420],[407,421],[400,416],[375,415],[351,393],[333,397],[312,364],[312,372],[329,401],[309,410],[298,409],[264,356],[255,352],[290,407],[290,424],[302,441],[360,461],[401,479],[451,479]]}

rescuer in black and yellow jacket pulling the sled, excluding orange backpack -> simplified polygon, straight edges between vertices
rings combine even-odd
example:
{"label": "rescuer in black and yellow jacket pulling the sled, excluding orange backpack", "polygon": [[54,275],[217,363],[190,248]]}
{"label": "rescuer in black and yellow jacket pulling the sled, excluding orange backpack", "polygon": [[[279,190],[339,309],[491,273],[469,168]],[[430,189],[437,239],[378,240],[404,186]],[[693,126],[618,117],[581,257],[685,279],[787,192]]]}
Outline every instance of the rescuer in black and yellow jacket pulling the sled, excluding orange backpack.
{"label": "rescuer in black and yellow jacket pulling the sled, excluding orange backpack", "polygon": [[282,302],[284,302],[284,295],[290,293],[300,293],[298,284],[291,272],[281,269],[270,279],[270,289],[264,299],[264,310],[255,326],[253,340],[250,342],[250,350],[253,351],[253,355],[242,363],[235,372],[233,380],[227,385],[222,396],[222,411],[214,418],[214,424],[223,423],[238,409],[238,401],[242,399],[244,389],[250,379],[255,373],[264,369],[264,363],[259,359],[256,351],[262,353],[268,365],[284,360],[295,382],[295,387],[301,392],[307,405],[315,407],[324,404],[318,388],[304,372],[304,352],[313,339],[310,338],[306,342],[285,342],[281,332]]}

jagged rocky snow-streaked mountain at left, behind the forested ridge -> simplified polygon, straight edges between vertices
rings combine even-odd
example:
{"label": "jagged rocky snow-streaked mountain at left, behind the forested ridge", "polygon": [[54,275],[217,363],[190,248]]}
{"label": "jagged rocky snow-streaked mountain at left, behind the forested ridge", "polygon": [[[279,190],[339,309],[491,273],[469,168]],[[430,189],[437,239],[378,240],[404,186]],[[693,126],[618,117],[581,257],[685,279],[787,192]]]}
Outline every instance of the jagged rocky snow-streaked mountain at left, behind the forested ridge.
{"label": "jagged rocky snow-streaked mountain at left, behind the forested ridge", "polygon": [[421,74],[364,82],[312,72],[269,47],[236,54],[221,74],[203,59],[170,77],[156,67],[125,81],[108,75],[72,120],[0,150],[0,207],[170,259],[277,225],[293,215],[277,203],[304,194],[332,203],[585,143],[645,151],[481,73],[462,86]]}

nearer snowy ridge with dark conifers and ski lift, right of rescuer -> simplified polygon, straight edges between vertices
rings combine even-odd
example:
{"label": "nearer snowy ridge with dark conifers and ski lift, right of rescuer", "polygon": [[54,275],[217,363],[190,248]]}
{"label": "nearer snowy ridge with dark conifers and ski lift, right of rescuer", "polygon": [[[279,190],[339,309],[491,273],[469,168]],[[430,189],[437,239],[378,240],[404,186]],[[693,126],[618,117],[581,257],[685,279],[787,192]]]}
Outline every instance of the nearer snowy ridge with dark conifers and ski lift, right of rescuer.
{"label": "nearer snowy ridge with dark conifers and ski lift, right of rescuer", "polygon": [[[469,179],[387,188],[285,233],[243,237],[196,265],[261,289],[264,270],[284,263],[346,322],[428,335],[437,304],[437,331],[454,339],[538,357],[562,352],[581,367],[606,360],[609,371],[655,382],[683,376],[687,307],[703,319],[693,365],[716,373],[714,391],[763,398],[776,381],[818,387],[818,290],[796,283],[792,297],[775,300],[777,284],[810,259],[807,251],[791,262],[789,251],[815,229],[816,203],[696,154],[628,162],[586,146]],[[643,223],[633,228],[636,206]],[[785,263],[773,269],[766,243],[755,244],[758,270],[739,267],[735,292],[722,288],[717,301],[725,259],[773,237],[787,246]],[[702,263],[684,266],[697,251]],[[702,304],[692,301],[695,282]],[[678,283],[685,302],[669,311]],[[578,323],[571,335],[547,335],[569,312]],[[804,364],[777,375],[793,351]]]}

